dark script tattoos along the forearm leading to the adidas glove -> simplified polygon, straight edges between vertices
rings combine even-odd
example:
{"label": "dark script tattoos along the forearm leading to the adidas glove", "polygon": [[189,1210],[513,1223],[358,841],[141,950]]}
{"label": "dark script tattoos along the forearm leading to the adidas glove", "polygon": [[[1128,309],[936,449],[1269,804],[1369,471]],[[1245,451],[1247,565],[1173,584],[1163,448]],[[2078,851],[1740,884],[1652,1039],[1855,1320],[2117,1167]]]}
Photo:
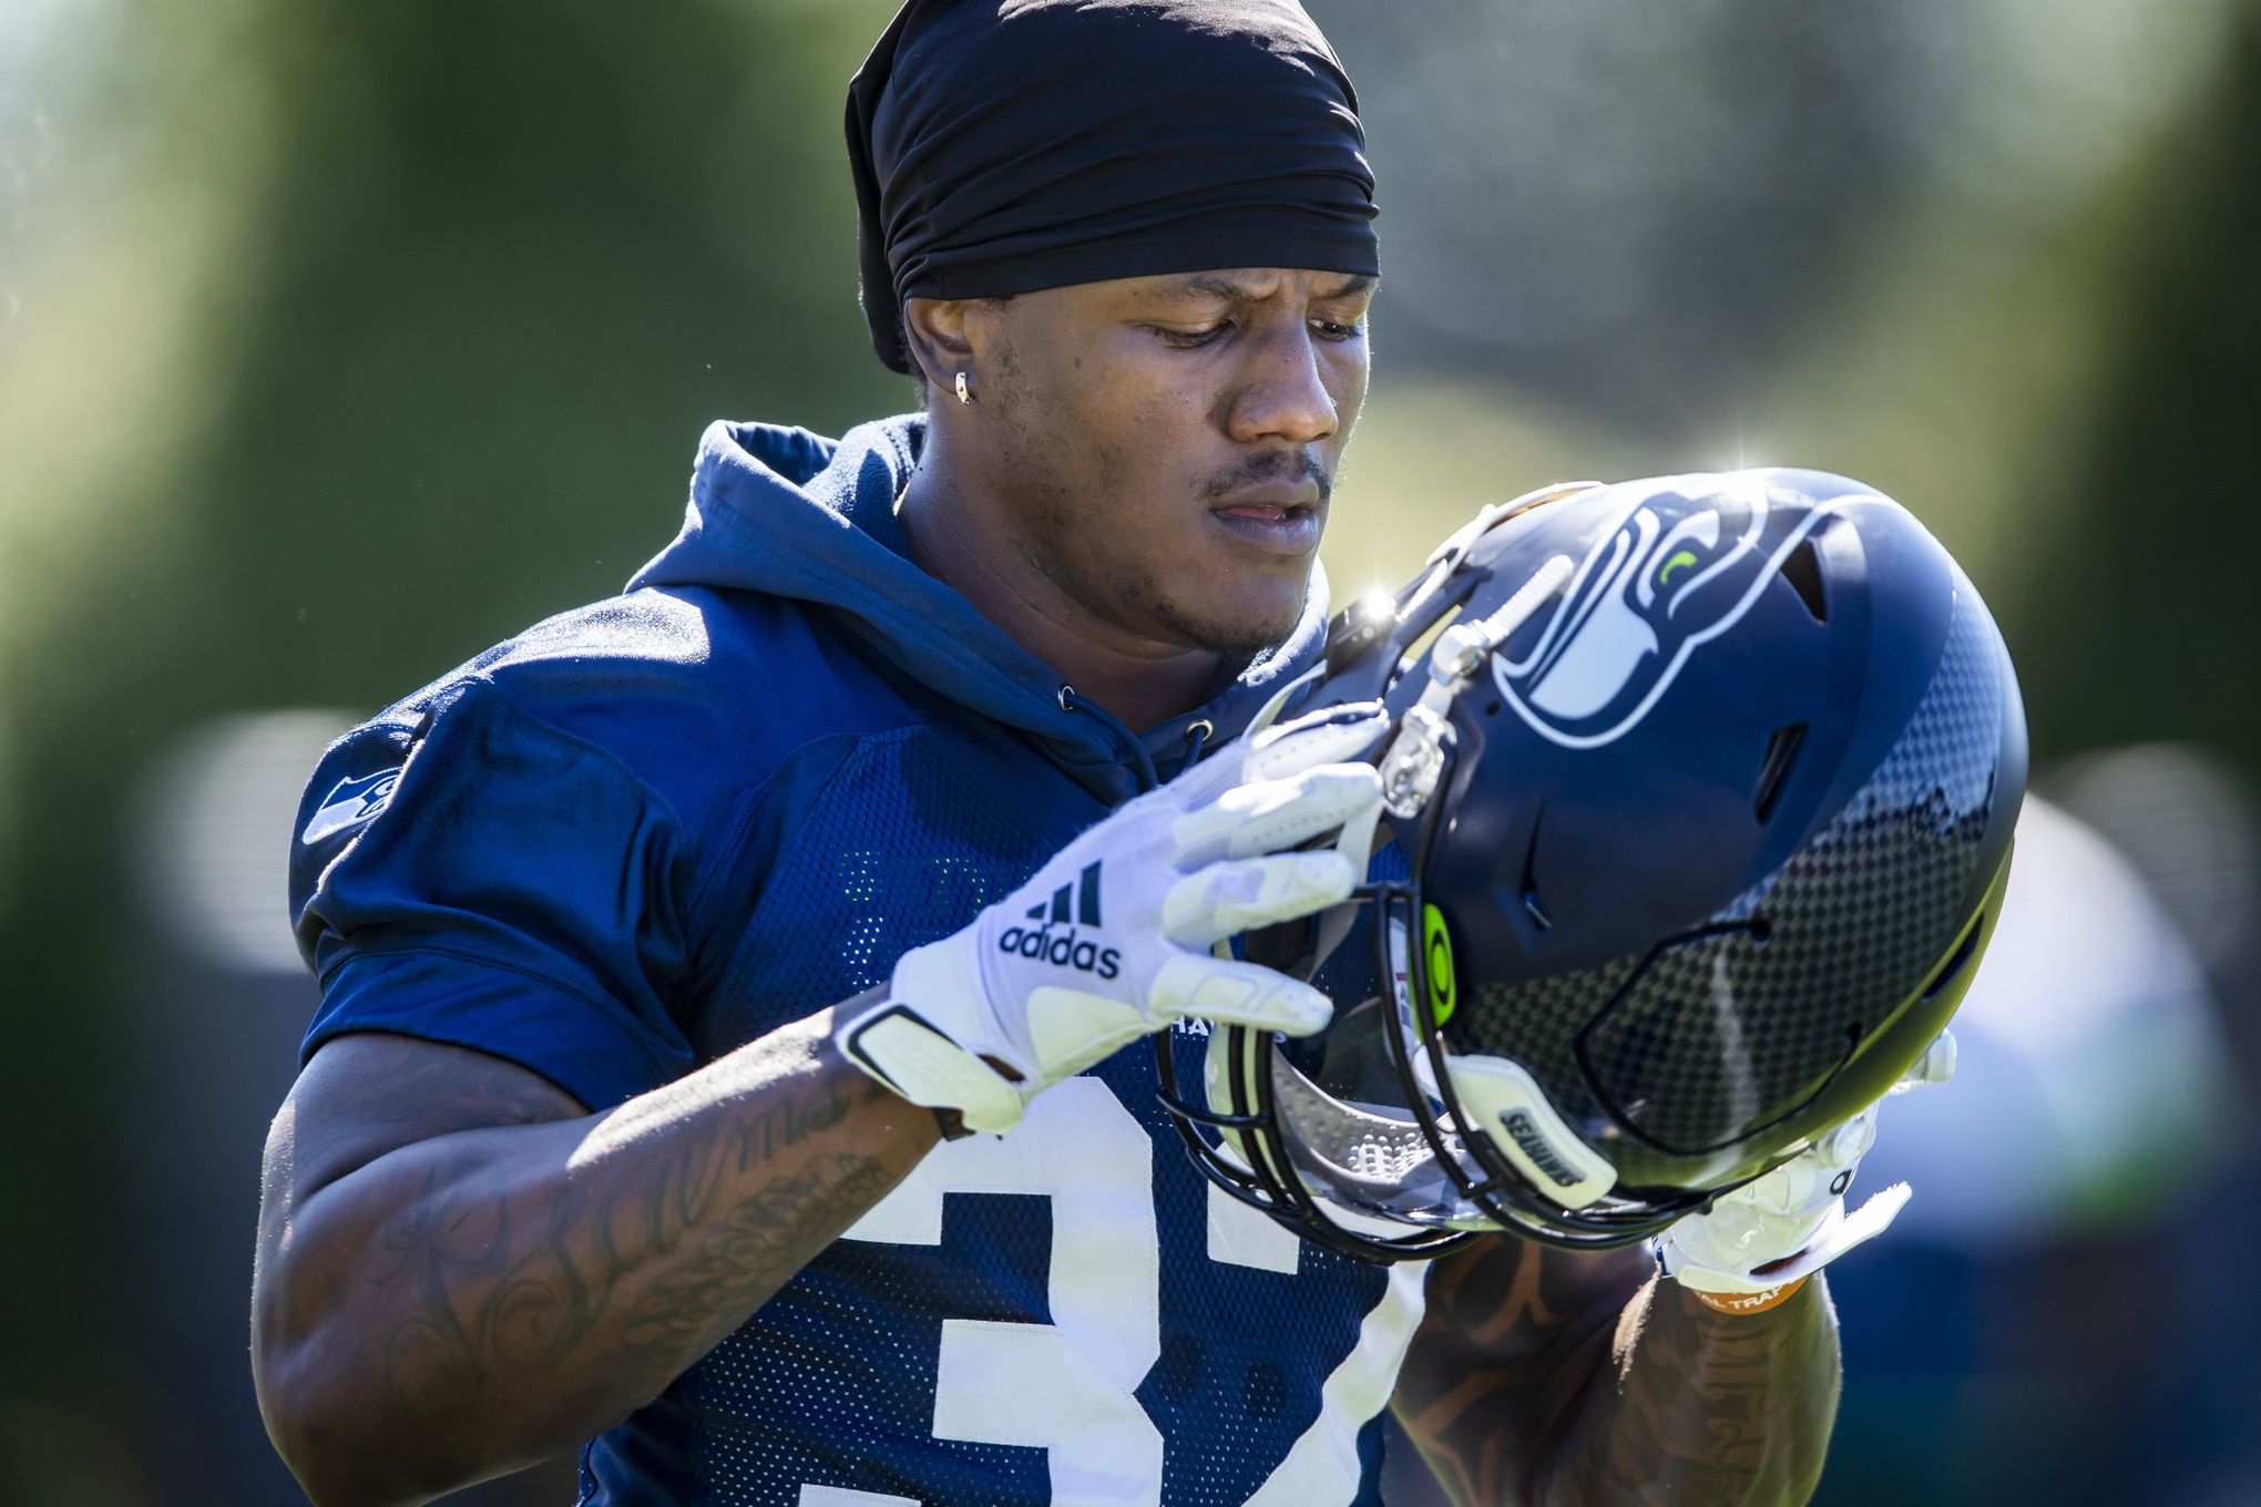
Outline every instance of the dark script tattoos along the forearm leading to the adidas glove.
{"label": "dark script tattoos along the forearm leading to the adidas glove", "polygon": [[547,1193],[509,1184],[477,1146],[432,1161],[362,1270],[416,1295],[389,1304],[387,1390],[436,1435],[464,1410],[522,1405],[527,1376],[568,1383],[561,1414],[586,1401],[577,1367],[606,1394],[656,1394],[900,1177],[848,1143],[812,1146],[852,1091],[884,1094],[780,1082],[757,1112],[665,1136],[665,1107],[631,1103]]}

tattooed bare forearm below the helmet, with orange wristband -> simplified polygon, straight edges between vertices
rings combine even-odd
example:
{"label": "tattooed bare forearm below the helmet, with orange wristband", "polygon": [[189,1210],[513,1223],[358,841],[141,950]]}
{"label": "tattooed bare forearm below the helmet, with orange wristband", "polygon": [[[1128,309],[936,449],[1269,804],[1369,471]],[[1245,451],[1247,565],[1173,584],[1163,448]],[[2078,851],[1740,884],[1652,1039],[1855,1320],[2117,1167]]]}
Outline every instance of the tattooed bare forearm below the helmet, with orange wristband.
{"label": "tattooed bare forearm below the helmet, with orange wristband", "polygon": [[1836,1417],[1836,1315],[1813,1277],[1723,1315],[1644,1252],[1499,1238],[1440,1261],[1397,1417],[1463,1507],[1795,1507]]}

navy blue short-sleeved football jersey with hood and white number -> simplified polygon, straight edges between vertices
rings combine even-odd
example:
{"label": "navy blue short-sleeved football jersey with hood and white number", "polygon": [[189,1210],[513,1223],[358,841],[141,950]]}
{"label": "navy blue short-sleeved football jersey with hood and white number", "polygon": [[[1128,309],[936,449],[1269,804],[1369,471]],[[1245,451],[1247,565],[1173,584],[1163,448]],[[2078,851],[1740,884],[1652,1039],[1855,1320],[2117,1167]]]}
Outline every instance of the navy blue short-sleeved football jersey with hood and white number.
{"label": "navy blue short-sleeved football jersey with hood and white number", "polygon": [[[909,563],[918,441],[717,427],[626,596],[332,746],[294,843],[305,1051],[407,1033],[617,1105],[884,981],[1316,653],[1318,599],[1144,737],[1067,705]],[[929,1155],[590,1441],[581,1500],[1372,1502],[1418,1315],[1418,1268],[1212,1193],[1140,1044]]]}

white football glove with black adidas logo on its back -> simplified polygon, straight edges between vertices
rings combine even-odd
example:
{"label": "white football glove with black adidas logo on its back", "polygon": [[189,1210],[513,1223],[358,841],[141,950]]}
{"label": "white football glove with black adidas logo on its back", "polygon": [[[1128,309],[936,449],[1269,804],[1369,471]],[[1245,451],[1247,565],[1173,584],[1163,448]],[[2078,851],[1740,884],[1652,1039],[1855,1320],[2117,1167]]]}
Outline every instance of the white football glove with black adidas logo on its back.
{"label": "white football glove with black adidas logo on its back", "polygon": [[[839,1028],[841,1053],[913,1105],[995,1132],[1180,1017],[1318,1030],[1325,994],[1210,949],[1350,897],[1381,779],[1348,759],[1386,728],[1379,705],[1329,707],[1119,807],[970,926],[907,951],[886,1001]],[[1289,852],[1327,834],[1332,847]]]}

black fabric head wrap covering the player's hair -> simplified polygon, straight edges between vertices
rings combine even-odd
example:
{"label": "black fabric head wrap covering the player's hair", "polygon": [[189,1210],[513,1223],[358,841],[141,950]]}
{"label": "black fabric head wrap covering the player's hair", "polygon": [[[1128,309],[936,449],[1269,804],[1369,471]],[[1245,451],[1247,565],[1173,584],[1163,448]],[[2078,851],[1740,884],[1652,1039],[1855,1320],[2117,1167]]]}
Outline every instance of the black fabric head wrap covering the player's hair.
{"label": "black fabric head wrap covering the player's hair", "polygon": [[864,319],[1216,267],[1377,273],[1359,95],[1296,0],[907,0],[848,84]]}

